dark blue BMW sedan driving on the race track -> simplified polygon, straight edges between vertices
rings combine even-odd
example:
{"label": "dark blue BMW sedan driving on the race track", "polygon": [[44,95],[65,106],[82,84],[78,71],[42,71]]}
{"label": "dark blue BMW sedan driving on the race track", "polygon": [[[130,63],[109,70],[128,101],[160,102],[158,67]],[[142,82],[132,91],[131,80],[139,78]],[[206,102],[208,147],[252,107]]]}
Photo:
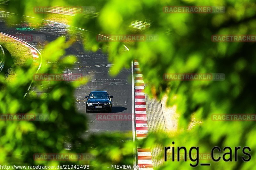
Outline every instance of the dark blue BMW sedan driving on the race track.
{"label": "dark blue BMW sedan driving on the race track", "polygon": [[89,96],[85,96],[86,112],[108,111],[112,112],[112,99],[106,90],[96,90],[90,92]]}

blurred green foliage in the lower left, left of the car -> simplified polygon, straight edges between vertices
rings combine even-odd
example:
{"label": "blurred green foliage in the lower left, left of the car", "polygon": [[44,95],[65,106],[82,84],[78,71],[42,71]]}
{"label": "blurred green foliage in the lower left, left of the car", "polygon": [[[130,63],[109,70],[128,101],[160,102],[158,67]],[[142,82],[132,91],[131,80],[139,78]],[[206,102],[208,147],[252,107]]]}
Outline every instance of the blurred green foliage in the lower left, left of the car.
{"label": "blurred green foliage in the lower left, left of the car", "polygon": [[[64,37],[60,37],[44,48],[41,56],[43,63],[38,73],[60,74],[60,70],[62,72],[64,68],[72,66],[75,57],[65,56],[65,49],[72,45],[72,41],[65,41]],[[28,63],[31,64],[30,61]],[[102,164],[108,166],[114,162],[132,164],[133,142],[130,139],[132,136],[130,133],[84,137],[87,134],[87,119],[76,111],[73,94],[75,88],[86,83],[86,79],[69,83],[35,81],[33,89],[23,98],[36,69],[31,65],[29,67],[17,65],[13,71],[16,76],[11,82],[6,81],[4,71],[0,74],[1,115],[43,113],[49,116],[49,120],[0,121],[1,165],[50,165],[56,167],[57,165],[71,164],[94,165],[90,169],[102,169]],[[130,140],[130,142],[124,143],[123,140]],[[70,150],[66,149],[68,146],[71,146]],[[96,159],[35,161],[33,159],[35,153],[89,153],[93,155],[92,158]]]}

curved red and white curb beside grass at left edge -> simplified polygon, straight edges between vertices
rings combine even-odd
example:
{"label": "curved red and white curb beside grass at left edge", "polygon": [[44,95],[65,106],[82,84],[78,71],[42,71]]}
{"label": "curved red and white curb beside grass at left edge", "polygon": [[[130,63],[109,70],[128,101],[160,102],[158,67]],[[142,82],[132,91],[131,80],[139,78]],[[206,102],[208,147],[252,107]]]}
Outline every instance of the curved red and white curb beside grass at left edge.
{"label": "curved red and white curb beside grass at left edge", "polygon": [[25,41],[22,41],[12,35],[8,35],[5,33],[0,32],[2,35],[7,36],[9,38],[14,39],[15,41],[20,42],[22,45],[28,47],[33,55],[33,62],[36,66],[38,66],[40,64],[40,52],[38,50],[36,50],[33,46],[29,45],[28,43],[26,43]]}

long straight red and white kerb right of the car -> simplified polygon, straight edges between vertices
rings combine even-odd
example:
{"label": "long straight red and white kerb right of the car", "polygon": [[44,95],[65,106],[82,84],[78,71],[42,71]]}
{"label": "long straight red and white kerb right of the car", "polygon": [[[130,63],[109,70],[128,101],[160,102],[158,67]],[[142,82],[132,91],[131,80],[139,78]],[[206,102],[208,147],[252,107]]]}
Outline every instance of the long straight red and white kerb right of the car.
{"label": "long straight red and white kerb right of the car", "polygon": [[[148,119],[143,76],[138,62],[134,62],[134,93],[135,93],[135,127],[136,139],[148,136]],[[153,161],[150,148],[138,148],[139,170],[153,170]]]}

